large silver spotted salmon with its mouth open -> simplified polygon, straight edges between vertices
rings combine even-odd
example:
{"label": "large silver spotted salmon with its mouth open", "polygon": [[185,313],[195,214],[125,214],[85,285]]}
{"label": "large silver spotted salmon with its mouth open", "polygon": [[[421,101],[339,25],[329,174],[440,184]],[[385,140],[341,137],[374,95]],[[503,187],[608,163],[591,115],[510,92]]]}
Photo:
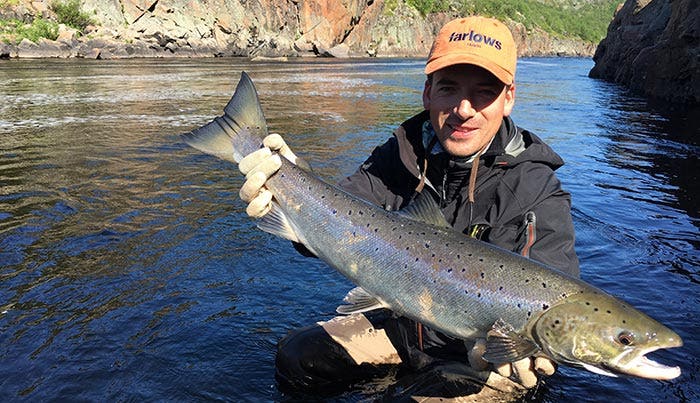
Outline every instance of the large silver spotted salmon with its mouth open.
{"label": "large silver spotted salmon with its mouth open", "polygon": [[[183,135],[191,146],[238,162],[259,149],[267,124],[242,73],[224,115]],[[430,197],[385,211],[282,158],[258,226],[304,244],[358,288],[342,313],[386,307],[461,339],[487,338],[484,358],[543,354],[596,373],[673,379],[645,355],[682,345],[654,319],[553,268],[449,228]]]}

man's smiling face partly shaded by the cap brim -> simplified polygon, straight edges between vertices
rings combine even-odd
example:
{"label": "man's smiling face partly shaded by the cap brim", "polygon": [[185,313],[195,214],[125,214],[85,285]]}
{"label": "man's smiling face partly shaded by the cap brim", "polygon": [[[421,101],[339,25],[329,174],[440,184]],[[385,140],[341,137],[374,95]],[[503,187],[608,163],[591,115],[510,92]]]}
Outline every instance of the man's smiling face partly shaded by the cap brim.
{"label": "man's smiling face partly shaded by the cap brim", "polygon": [[423,106],[442,147],[468,157],[491,142],[515,104],[515,84],[506,87],[493,74],[470,64],[445,67],[426,81]]}

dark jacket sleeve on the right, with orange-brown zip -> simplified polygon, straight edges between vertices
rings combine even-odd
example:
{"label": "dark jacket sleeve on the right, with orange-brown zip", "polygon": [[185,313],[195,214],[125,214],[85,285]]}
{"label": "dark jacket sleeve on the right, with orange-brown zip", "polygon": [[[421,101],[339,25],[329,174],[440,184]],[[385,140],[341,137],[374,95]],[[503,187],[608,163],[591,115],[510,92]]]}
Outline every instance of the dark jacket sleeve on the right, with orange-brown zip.
{"label": "dark jacket sleeve on the right, with orange-brown zip", "polygon": [[526,165],[524,179],[508,181],[499,195],[510,202],[501,204],[508,206],[498,213],[504,224],[492,228],[489,242],[579,277],[571,195],[549,167]]}

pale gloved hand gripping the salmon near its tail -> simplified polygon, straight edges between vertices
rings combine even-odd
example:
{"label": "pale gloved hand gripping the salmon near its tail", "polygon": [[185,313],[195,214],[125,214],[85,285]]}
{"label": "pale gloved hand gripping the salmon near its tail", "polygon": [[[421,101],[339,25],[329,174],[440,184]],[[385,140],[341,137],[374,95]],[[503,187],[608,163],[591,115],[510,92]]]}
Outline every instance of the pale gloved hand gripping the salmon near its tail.
{"label": "pale gloved hand gripping the salmon near its tail", "polygon": [[267,214],[272,207],[272,193],[265,182],[282,166],[280,155],[302,169],[310,170],[306,161],[298,158],[277,133],[263,139],[263,148],[246,155],[238,163],[238,169],[246,176],[239,196],[248,203],[246,213],[253,218]]}

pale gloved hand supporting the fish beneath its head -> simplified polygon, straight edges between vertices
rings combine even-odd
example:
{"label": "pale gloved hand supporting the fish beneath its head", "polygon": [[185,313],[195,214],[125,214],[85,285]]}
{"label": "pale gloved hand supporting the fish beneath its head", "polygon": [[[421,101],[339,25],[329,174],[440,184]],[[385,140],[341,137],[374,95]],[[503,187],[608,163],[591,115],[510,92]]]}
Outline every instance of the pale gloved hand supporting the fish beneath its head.
{"label": "pale gloved hand supporting the fish beneath its head", "polygon": [[[469,365],[478,370],[488,369],[489,363],[482,357],[486,352],[486,339],[477,339],[474,347],[469,350]],[[496,372],[499,375],[510,378],[514,375],[518,382],[525,388],[533,388],[537,385],[537,374],[550,376],[554,374],[556,367],[554,362],[547,357],[528,357],[513,363],[496,365]]]}

